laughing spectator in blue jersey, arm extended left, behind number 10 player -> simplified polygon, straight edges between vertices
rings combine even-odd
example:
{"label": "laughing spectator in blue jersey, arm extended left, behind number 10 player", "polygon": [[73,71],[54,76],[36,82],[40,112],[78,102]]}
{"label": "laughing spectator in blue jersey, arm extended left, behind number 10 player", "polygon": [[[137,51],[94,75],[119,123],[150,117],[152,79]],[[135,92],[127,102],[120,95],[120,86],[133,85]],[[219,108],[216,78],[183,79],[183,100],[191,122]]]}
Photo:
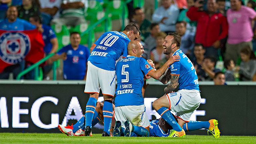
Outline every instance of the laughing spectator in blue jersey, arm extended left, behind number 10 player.
{"label": "laughing spectator in blue jersey, arm extended left, behind number 10 player", "polygon": [[87,59],[90,52],[80,45],[81,36],[77,32],[70,34],[70,44],[61,48],[51,61],[63,59],[63,76],[68,80],[83,80],[86,78]]}

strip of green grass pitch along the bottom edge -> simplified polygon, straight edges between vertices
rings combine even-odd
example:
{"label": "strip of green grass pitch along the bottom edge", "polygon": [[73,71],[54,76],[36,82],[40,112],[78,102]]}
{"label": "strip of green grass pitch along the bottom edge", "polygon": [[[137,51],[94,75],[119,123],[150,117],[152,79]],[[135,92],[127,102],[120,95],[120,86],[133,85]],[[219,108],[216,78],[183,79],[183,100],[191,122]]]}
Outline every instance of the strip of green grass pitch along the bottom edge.
{"label": "strip of green grass pitch along the bottom edge", "polygon": [[186,135],[168,137],[68,137],[62,133],[0,133],[0,144],[255,144],[256,136]]}

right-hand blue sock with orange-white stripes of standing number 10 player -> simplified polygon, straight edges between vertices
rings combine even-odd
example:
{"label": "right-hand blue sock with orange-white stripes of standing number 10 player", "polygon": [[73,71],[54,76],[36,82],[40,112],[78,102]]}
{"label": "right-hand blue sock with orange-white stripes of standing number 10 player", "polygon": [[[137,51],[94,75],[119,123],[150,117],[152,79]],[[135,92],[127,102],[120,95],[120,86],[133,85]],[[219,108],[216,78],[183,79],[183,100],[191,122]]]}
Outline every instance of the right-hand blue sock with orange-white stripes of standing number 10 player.
{"label": "right-hand blue sock with orange-white stripes of standing number 10 player", "polygon": [[110,124],[113,115],[113,104],[111,100],[105,100],[102,108],[102,113],[104,117],[104,131],[109,134]]}

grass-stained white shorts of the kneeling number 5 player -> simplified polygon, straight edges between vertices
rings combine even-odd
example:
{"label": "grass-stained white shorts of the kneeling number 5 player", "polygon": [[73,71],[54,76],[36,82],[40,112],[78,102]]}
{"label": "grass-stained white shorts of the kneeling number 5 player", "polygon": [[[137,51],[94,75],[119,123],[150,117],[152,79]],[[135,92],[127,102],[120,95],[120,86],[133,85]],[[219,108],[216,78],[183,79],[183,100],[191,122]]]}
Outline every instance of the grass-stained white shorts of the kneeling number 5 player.
{"label": "grass-stained white shorts of the kneeling number 5 player", "polygon": [[124,122],[126,120],[129,120],[132,125],[144,128],[150,125],[144,104],[115,107],[115,119],[116,121],[121,121],[122,127],[125,127]]}

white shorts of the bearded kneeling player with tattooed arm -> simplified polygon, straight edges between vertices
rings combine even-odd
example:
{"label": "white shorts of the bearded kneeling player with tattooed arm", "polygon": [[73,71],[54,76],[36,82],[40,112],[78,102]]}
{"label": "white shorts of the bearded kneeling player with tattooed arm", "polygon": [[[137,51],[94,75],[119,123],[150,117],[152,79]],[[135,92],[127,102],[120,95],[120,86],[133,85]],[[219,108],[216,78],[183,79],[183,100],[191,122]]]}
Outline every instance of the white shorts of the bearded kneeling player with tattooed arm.
{"label": "white shorts of the bearded kneeling player with tattooed arm", "polygon": [[166,94],[169,109],[176,112],[176,117],[188,122],[193,112],[199,107],[201,96],[199,90],[181,89]]}

